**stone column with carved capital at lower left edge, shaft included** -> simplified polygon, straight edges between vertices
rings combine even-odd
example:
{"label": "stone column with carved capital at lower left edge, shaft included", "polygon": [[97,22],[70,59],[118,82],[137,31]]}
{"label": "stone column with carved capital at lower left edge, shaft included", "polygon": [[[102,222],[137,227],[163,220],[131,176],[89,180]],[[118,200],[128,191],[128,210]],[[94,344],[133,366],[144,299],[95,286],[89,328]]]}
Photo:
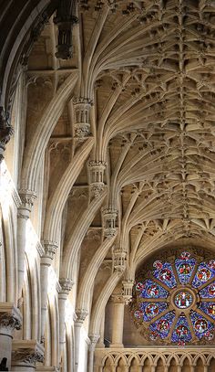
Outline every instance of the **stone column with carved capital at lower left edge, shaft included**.
{"label": "stone column with carved capital at lower left edge, shaft included", "polygon": [[[13,331],[21,328],[22,315],[13,303],[0,303],[0,363],[11,369]],[[4,362],[3,361],[3,362]]]}

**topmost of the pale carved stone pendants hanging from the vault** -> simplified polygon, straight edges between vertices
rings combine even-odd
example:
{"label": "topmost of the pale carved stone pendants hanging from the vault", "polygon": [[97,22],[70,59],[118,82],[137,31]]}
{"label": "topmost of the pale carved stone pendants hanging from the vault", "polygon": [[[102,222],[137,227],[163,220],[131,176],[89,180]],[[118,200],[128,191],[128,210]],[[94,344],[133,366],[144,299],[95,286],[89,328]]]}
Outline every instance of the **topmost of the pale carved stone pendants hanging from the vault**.
{"label": "topmost of the pale carved stone pendants hanging from the vault", "polygon": [[90,134],[89,111],[92,101],[88,98],[75,98],[73,100],[75,112],[75,136],[84,139]]}

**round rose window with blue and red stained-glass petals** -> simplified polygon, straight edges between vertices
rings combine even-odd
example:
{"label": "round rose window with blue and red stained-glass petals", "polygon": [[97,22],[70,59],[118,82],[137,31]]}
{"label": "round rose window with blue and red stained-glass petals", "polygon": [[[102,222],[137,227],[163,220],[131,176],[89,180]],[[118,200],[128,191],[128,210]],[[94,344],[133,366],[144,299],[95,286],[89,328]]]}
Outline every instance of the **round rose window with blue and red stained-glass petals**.
{"label": "round rose window with blue and red stained-glass petals", "polygon": [[148,340],[161,344],[209,343],[215,330],[215,260],[182,252],[176,260],[156,260],[138,280],[131,304],[135,323]]}

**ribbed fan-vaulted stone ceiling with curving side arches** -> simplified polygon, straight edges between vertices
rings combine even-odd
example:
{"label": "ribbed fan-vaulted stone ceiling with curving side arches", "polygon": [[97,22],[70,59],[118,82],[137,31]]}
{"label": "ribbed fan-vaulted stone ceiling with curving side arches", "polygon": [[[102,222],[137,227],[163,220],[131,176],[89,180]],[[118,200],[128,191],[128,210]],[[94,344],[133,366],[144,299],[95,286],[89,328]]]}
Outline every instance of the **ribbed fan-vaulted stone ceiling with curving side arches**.
{"label": "ribbed fan-vaulted stone ceiling with curving side arches", "polygon": [[[46,154],[42,238],[61,245],[62,275],[81,251],[80,272],[90,261],[99,277],[113,244],[127,255],[128,277],[164,246],[213,248],[214,1],[80,0],[77,7],[73,57],[56,58],[51,18],[26,72],[21,185],[33,188],[32,169]],[[78,102],[89,112],[90,129],[81,133]]]}

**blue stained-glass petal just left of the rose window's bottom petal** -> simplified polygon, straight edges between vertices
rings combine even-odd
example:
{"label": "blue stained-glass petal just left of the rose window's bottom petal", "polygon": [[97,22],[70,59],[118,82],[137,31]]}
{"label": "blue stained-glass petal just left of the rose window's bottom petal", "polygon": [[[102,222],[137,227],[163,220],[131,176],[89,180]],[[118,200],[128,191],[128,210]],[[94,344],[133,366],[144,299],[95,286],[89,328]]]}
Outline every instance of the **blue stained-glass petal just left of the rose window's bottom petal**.
{"label": "blue stained-glass petal just left of the rose window's bottom petal", "polygon": [[150,324],[149,331],[154,334],[157,333],[160,338],[166,338],[169,335],[169,330],[175,319],[175,312],[169,312],[161,316],[155,323]]}

